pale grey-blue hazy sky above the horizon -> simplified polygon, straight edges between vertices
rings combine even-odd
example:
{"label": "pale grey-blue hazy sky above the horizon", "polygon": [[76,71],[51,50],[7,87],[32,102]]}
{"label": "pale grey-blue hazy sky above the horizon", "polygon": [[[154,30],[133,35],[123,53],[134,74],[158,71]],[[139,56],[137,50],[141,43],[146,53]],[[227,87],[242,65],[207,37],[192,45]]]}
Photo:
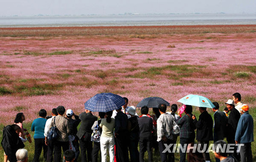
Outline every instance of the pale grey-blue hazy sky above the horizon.
{"label": "pale grey-blue hazy sky above the horizon", "polygon": [[0,16],[249,13],[256,0],[1,0]]}

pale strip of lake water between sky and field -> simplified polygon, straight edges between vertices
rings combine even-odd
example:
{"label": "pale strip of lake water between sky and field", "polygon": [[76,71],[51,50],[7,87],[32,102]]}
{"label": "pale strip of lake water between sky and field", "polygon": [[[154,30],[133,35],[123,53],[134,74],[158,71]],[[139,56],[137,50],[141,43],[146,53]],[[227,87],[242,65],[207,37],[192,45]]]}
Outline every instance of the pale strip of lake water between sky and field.
{"label": "pale strip of lake water between sky and field", "polygon": [[0,17],[0,27],[256,24],[256,14],[133,14]]}

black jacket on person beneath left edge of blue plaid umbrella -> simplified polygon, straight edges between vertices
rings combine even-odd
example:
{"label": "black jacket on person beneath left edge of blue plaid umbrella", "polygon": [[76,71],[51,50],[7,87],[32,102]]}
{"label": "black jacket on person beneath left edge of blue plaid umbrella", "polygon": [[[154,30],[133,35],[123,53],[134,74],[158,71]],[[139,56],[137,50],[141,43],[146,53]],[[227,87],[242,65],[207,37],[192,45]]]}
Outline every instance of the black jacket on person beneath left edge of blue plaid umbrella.
{"label": "black jacket on person beneath left edge of blue plaid umbrella", "polygon": [[83,136],[85,141],[91,141],[91,135],[92,135],[92,126],[94,122],[98,119],[97,117],[93,116],[92,113],[86,113],[83,112],[79,115],[81,119],[81,125],[76,133],[76,136],[81,139]]}

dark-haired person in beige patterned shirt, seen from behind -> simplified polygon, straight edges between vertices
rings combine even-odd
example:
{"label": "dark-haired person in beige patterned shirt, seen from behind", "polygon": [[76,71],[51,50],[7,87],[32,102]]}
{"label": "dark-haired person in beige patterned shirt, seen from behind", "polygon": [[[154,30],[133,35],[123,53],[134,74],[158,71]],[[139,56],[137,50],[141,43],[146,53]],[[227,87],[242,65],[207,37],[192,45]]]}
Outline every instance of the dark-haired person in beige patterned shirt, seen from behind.
{"label": "dark-haired person in beige patterned shirt, seen from behind", "polygon": [[66,112],[64,106],[57,107],[58,115],[53,117],[52,122],[50,124],[50,128],[56,125],[58,129],[58,137],[56,140],[53,141],[54,147],[54,162],[61,161],[61,147],[63,152],[69,149],[69,133],[70,127],[68,120],[63,117],[63,114]]}

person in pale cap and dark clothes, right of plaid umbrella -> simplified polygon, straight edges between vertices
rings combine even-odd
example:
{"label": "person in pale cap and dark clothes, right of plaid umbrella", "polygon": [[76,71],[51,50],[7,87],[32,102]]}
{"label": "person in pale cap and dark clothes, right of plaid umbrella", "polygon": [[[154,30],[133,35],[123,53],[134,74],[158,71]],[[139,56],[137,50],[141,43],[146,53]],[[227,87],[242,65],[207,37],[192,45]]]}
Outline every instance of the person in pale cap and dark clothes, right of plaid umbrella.
{"label": "person in pale cap and dark clothes, right of plaid umbrella", "polygon": [[138,151],[138,143],[139,143],[139,124],[138,124],[138,116],[136,116],[136,108],[131,106],[127,112],[131,115],[131,118],[128,119],[128,131],[130,134],[129,138],[129,151],[131,161],[138,162],[139,161],[139,151]]}

